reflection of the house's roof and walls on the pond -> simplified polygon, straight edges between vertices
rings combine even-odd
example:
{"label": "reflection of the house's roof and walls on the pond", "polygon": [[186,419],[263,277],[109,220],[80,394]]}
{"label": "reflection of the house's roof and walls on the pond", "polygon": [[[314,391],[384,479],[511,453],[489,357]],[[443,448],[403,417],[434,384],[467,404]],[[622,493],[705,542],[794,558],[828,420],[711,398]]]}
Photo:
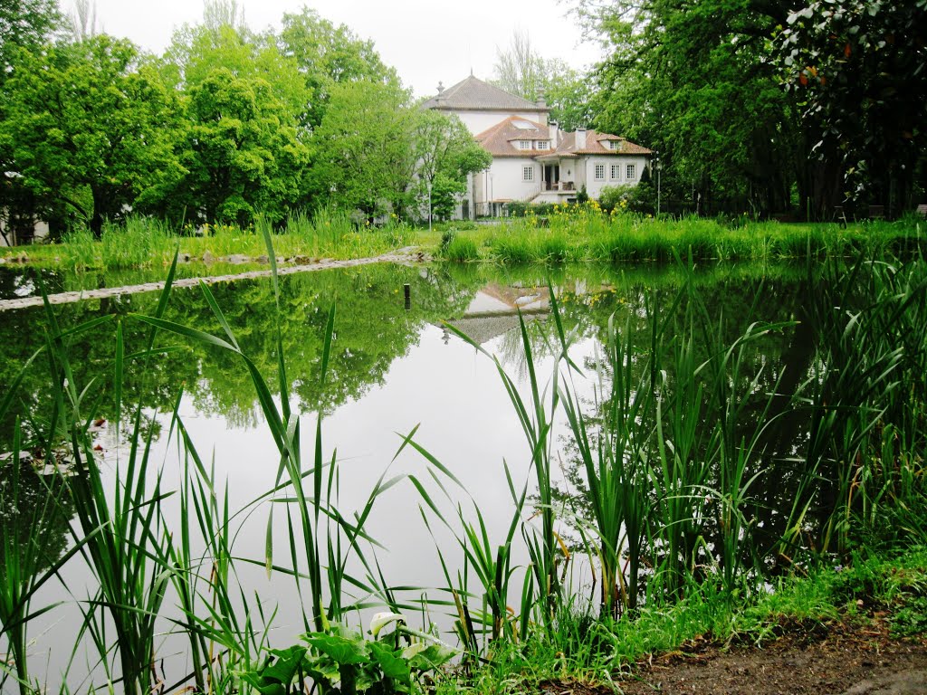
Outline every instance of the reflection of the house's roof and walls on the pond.
{"label": "reflection of the house's roof and walls on the pond", "polygon": [[[485,345],[517,330],[519,311],[526,323],[545,321],[551,311],[547,288],[487,284],[476,293],[464,314],[448,324]],[[451,335],[457,337],[447,326],[442,327],[445,343],[450,342]]]}

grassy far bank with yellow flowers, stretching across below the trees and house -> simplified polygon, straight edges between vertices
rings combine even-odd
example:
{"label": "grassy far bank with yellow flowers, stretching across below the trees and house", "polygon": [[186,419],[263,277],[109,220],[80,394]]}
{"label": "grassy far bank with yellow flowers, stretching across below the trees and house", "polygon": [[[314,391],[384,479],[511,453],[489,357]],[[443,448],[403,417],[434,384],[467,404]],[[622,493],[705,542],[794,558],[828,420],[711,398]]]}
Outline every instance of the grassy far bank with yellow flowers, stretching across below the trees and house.
{"label": "grassy far bank with yellow flowers, stretching across below the trees and house", "polygon": [[[260,227],[260,223],[258,225]],[[294,214],[274,234],[284,259],[352,259],[376,256],[400,246],[419,246],[451,261],[504,264],[565,261],[671,261],[689,250],[698,261],[778,261],[850,258],[906,253],[925,244],[923,222],[866,221],[843,228],[836,223],[780,223],[689,218],[654,220],[626,213],[605,214],[591,207],[569,208],[538,218],[476,224],[447,222],[429,232],[396,222],[386,227],[357,225],[343,213],[322,211],[310,218]],[[88,231],[66,235],[60,244],[0,249],[10,262],[70,270],[167,267],[174,251],[182,259],[252,259],[266,265],[261,230],[204,227],[179,234],[146,218],[108,225],[102,238]],[[209,268],[204,269],[210,272]]]}

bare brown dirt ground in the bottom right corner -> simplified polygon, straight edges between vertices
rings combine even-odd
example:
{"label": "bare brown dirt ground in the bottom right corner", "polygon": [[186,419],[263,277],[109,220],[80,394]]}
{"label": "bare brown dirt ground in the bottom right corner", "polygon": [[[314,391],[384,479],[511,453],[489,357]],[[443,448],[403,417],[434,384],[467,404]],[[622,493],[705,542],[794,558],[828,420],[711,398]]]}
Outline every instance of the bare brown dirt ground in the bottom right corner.
{"label": "bare brown dirt ground in the bottom right corner", "polygon": [[[927,695],[927,636],[891,638],[874,625],[789,626],[762,648],[700,638],[638,663],[618,692],[731,695]],[[603,695],[615,689],[548,682],[544,693]]]}

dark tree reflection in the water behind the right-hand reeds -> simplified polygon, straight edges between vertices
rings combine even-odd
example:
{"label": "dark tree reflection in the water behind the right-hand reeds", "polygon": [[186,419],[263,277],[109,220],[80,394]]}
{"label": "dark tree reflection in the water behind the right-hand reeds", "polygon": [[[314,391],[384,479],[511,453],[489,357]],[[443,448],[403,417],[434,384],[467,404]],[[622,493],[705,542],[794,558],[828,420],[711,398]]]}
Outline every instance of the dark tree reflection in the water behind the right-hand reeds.
{"label": "dark tree reflection in the water behind the right-hand reeds", "polygon": [[[806,379],[811,369],[814,356],[814,337],[810,322],[807,321],[807,306],[813,301],[815,283],[792,279],[760,282],[749,277],[722,278],[711,283],[699,283],[698,293],[705,307],[702,317],[705,333],[697,341],[695,363],[703,364],[717,358],[713,350],[717,346],[730,346],[744,334],[752,322],[797,321],[794,326],[775,333],[764,335],[761,339],[749,343],[743,350],[743,364],[740,383],[730,384],[730,388],[743,405],[743,417],[737,423],[737,430],[732,439],[741,441],[748,437],[764,422],[774,421],[775,425],[766,428],[760,438],[757,450],[760,455],[749,462],[744,479],[759,474],[758,484],[751,487],[751,503],[746,510],[751,520],[752,543],[744,552],[753,553],[758,549],[760,556],[768,553],[781,538],[784,524],[788,521],[781,513],[791,508],[796,488],[800,484],[802,471],[794,465],[796,452],[802,446],[806,433],[806,424],[801,412],[791,407],[791,395]],[[615,317],[615,323],[624,332],[629,329],[625,339],[631,340],[630,360],[636,367],[636,378],[641,377],[651,349],[652,320],[668,321],[669,340],[664,348],[672,349],[673,336],[681,335],[682,316],[685,314],[686,301],[673,309],[675,315],[668,312],[677,297],[678,287],[673,284],[653,286],[646,283],[625,284],[619,288],[607,288],[596,294],[565,295],[561,299],[565,325],[575,324],[573,316],[581,314],[579,321],[586,324],[587,335],[595,335],[600,345],[605,339],[608,318]],[[614,291],[613,291],[614,290]],[[760,297],[754,303],[753,298]],[[604,375],[603,390],[607,395],[610,388],[611,374],[607,360],[597,361],[589,358],[583,365],[587,374],[597,370]],[[677,385],[674,373],[674,361],[661,360],[661,368],[666,372],[667,390]],[[592,377],[594,378],[594,376]],[[756,389],[747,390],[756,378]],[[634,383],[637,383],[636,381]],[[585,410],[590,413],[590,422],[602,423],[603,394],[594,402],[585,399]],[[771,399],[771,402],[770,402]],[[768,410],[767,410],[768,408]],[[707,412],[703,408],[700,415],[700,436],[698,445],[701,449],[696,455],[705,456],[708,452],[707,433],[714,425],[717,413]],[[766,421],[761,422],[765,417]],[[642,423],[647,427],[653,423]],[[565,439],[565,487],[561,499],[569,503],[580,513],[588,513],[585,502],[586,484],[578,455],[572,442]],[[715,485],[719,471],[717,466],[710,472],[706,485]],[[700,531],[705,536],[707,547],[719,547],[720,531],[717,512],[710,506],[705,507],[705,516],[700,520]],[[750,564],[753,557],[744,557],[743,562]]]}

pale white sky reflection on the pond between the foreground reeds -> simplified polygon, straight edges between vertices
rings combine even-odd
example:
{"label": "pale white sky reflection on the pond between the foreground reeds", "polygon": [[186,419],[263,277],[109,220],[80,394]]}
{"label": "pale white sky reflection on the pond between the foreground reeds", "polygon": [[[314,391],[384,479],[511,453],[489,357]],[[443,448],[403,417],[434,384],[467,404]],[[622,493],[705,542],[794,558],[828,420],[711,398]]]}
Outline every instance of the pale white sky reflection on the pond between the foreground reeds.
{"label": "pale white sky reflection on the pond between the foreground reeds", "polygon": [[[513,510],[503,461],[509,465],[515,486],[520,489],[527,482],[529,494],[535,489],[534,476],[528,465],[530,451],[524,432],[496,367],[488,357],[456,335],[449,336],[442,327],[432,323],[422,324],[420,331],[417,344],[413,344],[404,357],[391,364],[382,385],[374,385],[359,400],[349,400],[324,420],[324,458],[330,460],[333,450],[337,449],[339,461],[337,507],[348,515],[360,511],[377,479],[388,468],[387,477],[414,474],[423,481],[432,499],[438,502],[446,518],[459,530],[456,512],[446,500],[441,502],[442,493],[427,474],[429,464],[424,457],[410,447],[390,463],[400,447],[400,436],[408,434],[415,425],[419,425],[415,441],[450,468],[463,484],[465,492],[442,476],[441,482],[451,492],[455,502],[463,505],[467,521],[476,523],[472,503],[467,499],[469,495],[483,514],[490,540],[493,544],[501,543],[511,523]],[[500,355],[503,365],[521,388],[523,398],[529,399],[524,358],[516,349],[519,341],[516,328],[514,333],[498,335],[483,347]],[[575,357],[579,363],[582,363],[581,358],[585,354],[591,353],[593,342],[589,340],[578,344]],[[536,368],[541,385],[548,385],[552,359],[538,359]],[[215,488],[220,496],[225,482],[228,482],[232,511],[241,509],[273,487],[278,457],[273,439],[262,422],[256,427],[233,426],[222,414],[197,411],[191,398],[184,398],[180,415],[207,468],[210,468],[212,461],[215,462]],[[162,415],[161,419],[162,436],[155,446],[152,461],[162,465],[162,488],[176,490],[182,483],[182,464],[176,437],[171,441],[167,438],[170,416]],[[564,423],[559,422],[558,425],[557,432],[562,433]],[[304,465],[308,468],[314,449],[314,414],[303,415],[300,428]],[[115,466],[114,453],[110,451],[106,459],[112,472]],[[151,480],[153,484],[154,472]],[[370,535],[387,549],[375,551],[375,558],[380,562],[387,583],[391,586],[422,589],[404,592],[400,594],[400,600],[417,600],[423,594],[431,598],[444,598],[439,588],[444,588],[446,582],[438,562],[436,540],[422,521],[420,506],[425,507],[418,492],[410,481],[404,480],[377,500],[374,512],[366,524]],[[177,496],[164,501],[164,512],[168,519],[179,518],[179,509]],[[236,530],[236,556],[263,562],[268,511],[269,503],[265,502],[255,512],[241,516],[233,523]],[[427,513],[432,532],[445,553],[445,561],[451,573],[455,574],[462,567],[463,551],[434,514],[430,511]],[[274,514],[274,562],[289,566],[291,560],[284,509],[277,507]],[[293,519],[298,524],[295,514]],[[527,563],[527,552],[520,537],[520,532],[516,533],[513,564],[524,566]],[[373,562],[374,555],[369,546],[363,550]],[[349,571],[362,573],[358,565],[357,562],[351,562]],[[264,608],[266,615],[273,613],[273,604],[278,608],[273,621],[275,646],[285,646],[304,631],[298,594],[290,577],[273,575],[268,579],[262,568],[244,562],[236,565],[236,571],[246,593],[253,596],[257,591],[263,599],[268,600],[270,605]],[[87,589],[84,587],[88,586],[86,570],[72,563],[65,568],[64,576],[74,598],[85,600]],[[520,571],[516,576],[519,578],[514,579],[514,586],[520,587]],[[362,574],[359,578],[367,580]],[[471,588],[476,590],[476,586]],[[56,587],[45,590],[36,605],[44,605],[44,601],[50,600],[69,599]],[[166,606],[166,613],[172,610]],[[451,621],[435,611],[432,609],[430,619],[450,629]],[[349,620],[366,622],[368,613],[371,612]],[[57,683],[57,677],[53,674],[64,667],[68,656],[53,647],[57,641],[57,631],[65,630],[70,638],[79,620],[79,614],[72,606],[59,608],[54,615],[54,621],[36,621],[34,629],[31,625],[33,637],[36,638],[32,653],[36,654],[36,658],[39,658],[39,653],[46,655],[49,683]],[[413,620],[418,621],[418,616],[414,615]],[[168,627],[164,625],[164,629]],[[44,629],[48,631],[43,634]],[[184,639],[171,638],[162,644],[159,653],[170,657],[171,654],[183,653],[185,647]],[[178,662],[173,663],[178,665],[168,669],[169,681],[183,670]],[[75,675],[86,671],[86,664],[77,663],[73,666]],[[70,681],[73,682],[73,678]]]}

